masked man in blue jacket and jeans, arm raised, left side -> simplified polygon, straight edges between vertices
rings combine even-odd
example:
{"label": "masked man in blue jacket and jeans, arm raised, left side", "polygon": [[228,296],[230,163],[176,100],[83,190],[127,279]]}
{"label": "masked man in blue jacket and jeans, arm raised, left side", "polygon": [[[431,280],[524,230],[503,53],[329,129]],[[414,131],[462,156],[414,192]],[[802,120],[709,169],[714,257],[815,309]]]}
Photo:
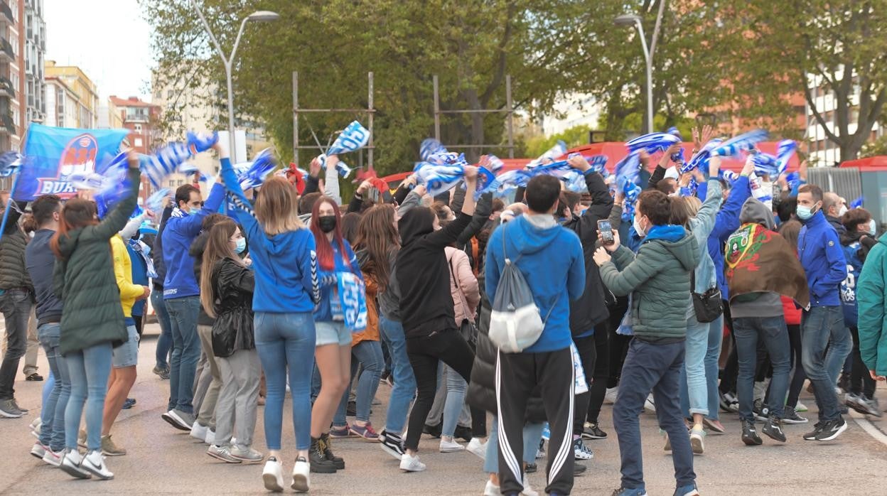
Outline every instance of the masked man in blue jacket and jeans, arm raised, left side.
{"label": "masked man in blue jacket and jeans, arm raised, left side", "polygon": [[200,234],[203,217],[218,212],[224,200],[224,186],[219,176],[206,203],[192,185],[176,190],[176,208],[167,221],[163,238],[163,301],[172,328],[173,351],[169,364],[169,411],[161,416],[180,430],[192,429],[194,374],[200,359],[197,317],[200,312],[200,288],[194,279],[194,258],[188,249]]}

